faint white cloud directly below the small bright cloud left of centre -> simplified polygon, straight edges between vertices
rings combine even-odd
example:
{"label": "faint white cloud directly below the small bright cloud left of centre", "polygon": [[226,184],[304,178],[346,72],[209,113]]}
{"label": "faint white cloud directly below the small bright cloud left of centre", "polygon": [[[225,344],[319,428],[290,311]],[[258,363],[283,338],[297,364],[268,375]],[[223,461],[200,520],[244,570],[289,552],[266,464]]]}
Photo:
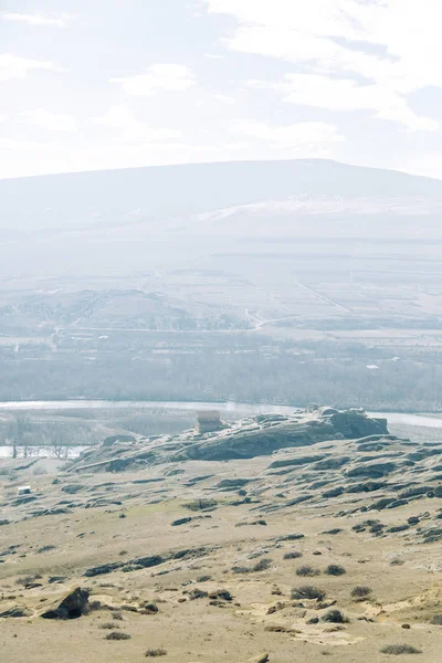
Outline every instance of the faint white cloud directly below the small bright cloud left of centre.
{"label": "faint white cloud directly below the small bright cloud left of centre", "polygon": [[112,106],[105,115],[95,117],[93,122],[103,127],[118,129],[122,138],[128,141],[154,143],[170,140],[180,136],[180,131],[152,128],[147,123],[136,119],[130,108],[124,104]]}

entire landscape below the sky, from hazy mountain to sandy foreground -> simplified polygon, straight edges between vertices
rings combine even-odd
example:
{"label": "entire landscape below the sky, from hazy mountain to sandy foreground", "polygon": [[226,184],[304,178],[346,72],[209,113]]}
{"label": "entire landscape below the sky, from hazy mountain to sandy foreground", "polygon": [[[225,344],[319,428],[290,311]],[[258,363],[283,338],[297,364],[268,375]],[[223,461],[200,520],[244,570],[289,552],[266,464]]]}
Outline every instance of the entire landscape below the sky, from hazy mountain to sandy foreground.
{"label": "entire landscape below the sky, from hazy mountain to sandy foreground", "polygon": [[0,204],[6,660],[435,663],[441,182],[219,164]]}

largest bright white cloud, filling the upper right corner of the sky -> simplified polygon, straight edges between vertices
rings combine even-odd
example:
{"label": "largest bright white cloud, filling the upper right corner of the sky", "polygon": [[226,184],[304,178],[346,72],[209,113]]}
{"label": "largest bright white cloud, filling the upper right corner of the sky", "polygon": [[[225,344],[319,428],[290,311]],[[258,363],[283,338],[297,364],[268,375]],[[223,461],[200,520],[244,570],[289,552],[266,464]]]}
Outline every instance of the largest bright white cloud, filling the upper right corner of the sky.
{"label": "largest bright white cloud, filling the upper right corner of the sky", "polygon": [[[435,128],[428,118],[415,116],[406,95],[428,86],[442,87],[440,0],[425,0],[423,6],[415,0],[204,2],[209,12],[236,18],[238,28],[225,41],[231,50],[277,57],[317,76],[341,78],[354,107],[371,109],[409,128]],[[352,84],[355,75],[365,83]],[[370,98],[362,102],[361,97]]]}

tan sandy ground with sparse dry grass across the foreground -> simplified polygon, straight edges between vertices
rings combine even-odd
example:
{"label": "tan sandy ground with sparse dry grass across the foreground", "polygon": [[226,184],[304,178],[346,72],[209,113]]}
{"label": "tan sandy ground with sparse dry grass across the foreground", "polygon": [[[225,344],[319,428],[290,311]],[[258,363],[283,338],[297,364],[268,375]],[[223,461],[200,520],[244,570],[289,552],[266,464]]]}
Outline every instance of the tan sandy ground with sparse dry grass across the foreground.
{"label": "tan sandy ground with sparse dry grass across the foreground", "polygon": [[[357,533],[352,526],[378,518],[389,528],[410,516],[424,523],[438,516],[442,502],[424,496],[381,514],[364,514],[350,512],[379,496],[347,494],[265,512],[282,504],[280,477],[262,480],[269,462],[187,462],[180,474],[169,476],[177,465],[118,475],[62,472],[56,484],[54,475],[34,476],[36,502],[59,508],[67,503],[69,513],[46,516],[32,516],[34,502],[12,507],[17,482],[2,477],[0,518],[12,516],[13,522],[0,527],[0,612],[19,606],[27,617],[0,618],[1,660],[133,663],[145,660],[147,650],[162,649],[165,663],[242,663],[265,653],[272,663],[378,663],[409,660],[410,654],[381,652],[407,644],[421,652],[414,656],[421,663],[441,661],[442,625],[431,623],[442,614],[441,543],[422,544],[419,526],[381,535]],[[238,491],[217,487],[227,477],[256,478],[253,491],[248,488],[251,503]],[[159,481],[134,483],[151,478]],[[80,486],[77,493],[62,491],[73,484]],[[255,502],[260,493],[262,501]],[[109,503],[85,508],[91,497]],[[196,498],[214,498],[217,508],[191,512],[185,505]],[[183,517],[193,519],[171,526]],[[265,524],[252,524],[256,520]],[[290,534],[304,537],[278,540]],[[44,550],[46,546],[53,548]],[[127,565],[129,570],[84,576],[98,565],[178,550],[190,554],[152,568],[130,570]],[[293,551],[302,557],[284,558]],[[265,570],[232,570],[261,559],[269,559]],[[327,575],[330,564],[346,572]],[[318,575],[297,576],[302,566]],[[54,576],[63,580],[51,581]],[[292,599],[292,589],[304,585],[320,588],[324,600]],[[370,588],[367,600],[355,601],[356,586]],[[40,617],[45,606],[76,587],[87,589],[90,603],[98,609],[65,621]],[[209,596],[194,598],[196,589]],[[213,601],[210,594],[220,589],[232,600]],[[144,613],[146,602],[155,602],[158,612]],[[323,621],[332,609],[341,611],[345,623]],[[113,631],[130,638],[106,640]]]}

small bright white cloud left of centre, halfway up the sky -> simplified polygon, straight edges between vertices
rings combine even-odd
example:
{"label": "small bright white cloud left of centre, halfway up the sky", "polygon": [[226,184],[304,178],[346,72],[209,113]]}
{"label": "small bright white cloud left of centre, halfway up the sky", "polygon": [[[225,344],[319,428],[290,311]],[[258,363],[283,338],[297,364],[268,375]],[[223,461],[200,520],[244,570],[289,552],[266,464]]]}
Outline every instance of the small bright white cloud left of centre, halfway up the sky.
{"label": "small bright white cloud left of centre, halfway up the sky", "polygon": [[157,92],[185,92],[194,85],[192,71],[183,64],[152,64],[143,74],[110,78],[130,96],[148,97]]}

